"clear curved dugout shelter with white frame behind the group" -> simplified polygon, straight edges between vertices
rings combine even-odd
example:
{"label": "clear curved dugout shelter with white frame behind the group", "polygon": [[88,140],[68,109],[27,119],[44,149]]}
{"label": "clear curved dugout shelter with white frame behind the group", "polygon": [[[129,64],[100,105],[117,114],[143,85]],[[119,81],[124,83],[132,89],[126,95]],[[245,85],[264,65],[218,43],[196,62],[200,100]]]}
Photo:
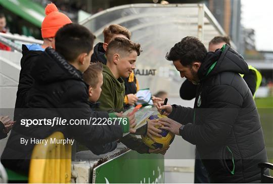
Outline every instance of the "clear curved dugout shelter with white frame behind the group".
{"label": "clear curved dugout shelter with white frame behind the group", "polygon": [[[165,83],[164,88],[175,96],[179,91],[177,82],[183,79],[171,66],[172,62],[165,59],[170,48],[185,36],[199,37],[208,47],[214,36],[226,35],[204,4],[123,5],[94,14],[79,24],[89,28],[97,42],[103,42],[103,29],[111,24],[128,28],[131,40],[142,45],[135,72],[141,87],[150,87],[155,93]],[[232,46],[235,47],[233,43]]]}

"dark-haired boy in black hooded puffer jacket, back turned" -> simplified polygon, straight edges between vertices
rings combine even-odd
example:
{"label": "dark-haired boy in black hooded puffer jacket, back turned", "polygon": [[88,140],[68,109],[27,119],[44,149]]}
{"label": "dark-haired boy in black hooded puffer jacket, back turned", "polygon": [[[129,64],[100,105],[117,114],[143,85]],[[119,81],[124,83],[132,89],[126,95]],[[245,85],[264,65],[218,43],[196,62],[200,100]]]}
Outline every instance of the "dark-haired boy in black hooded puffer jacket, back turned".
{"label": "dark-haired boy in black hooded puffer jacket, back turned", "polygon": [[[63,132],[66,138],[74,137],[92,151],[96,146],[120,139],[130,125],[135,125],[133,116],[129,117],[130,122],[126,125],[93,125],[98,113],[93,112],[88,105],[88,86],[82,79],[82,73],[89,66],[94,38],[84,26],[67,24],[56,33],[56,51],[47,48],[39,55],[39,63],[31,71],[35,82],[29,91],[28,109],[21,115],[20,123],[16,123],[12,129],[2,154],[5,167],[28,172],[35,146],[30,141],[44,140],[55,131]],[[109,118],[106,112],[101,112],[100,116],[103,114]],[[58,125],[33,123],[26,126],[21,121],[24,118],[53,120],[56,117],[66,119],[67,122]],[[93,118],[90,123],[74,123],[76,119],[89,120],[90,117]],[[22,144],[22,139],[28,140],[28,144]]]}

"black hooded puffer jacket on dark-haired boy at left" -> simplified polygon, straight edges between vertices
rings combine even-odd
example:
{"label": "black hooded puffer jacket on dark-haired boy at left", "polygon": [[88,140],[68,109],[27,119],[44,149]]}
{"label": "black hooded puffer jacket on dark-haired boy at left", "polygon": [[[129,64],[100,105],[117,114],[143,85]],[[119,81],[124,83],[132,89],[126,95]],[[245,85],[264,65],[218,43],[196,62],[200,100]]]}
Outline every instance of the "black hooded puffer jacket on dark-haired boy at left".
{"label": "black hooded puffer jacket on dark-haired boy at left", "polygon": [[[18,111],[21,119],[87,119],[105,117],[107,112],[93,112],[88,104],[87,84],[80,71],[70,65],[53,49],[46,49],[38,57],[39,63],[33,66],[31,75],[34,84],[29,90],[27,109]],[[91,151],[94,147],[114,142],[122,137],[122,125],[21,125],[18,120],[11,131],[7,146],[2,154],[4,166],[28,171],[29,159],[35,144],[21,144],[21,139],[44,139],[55,131],[61,131],[65,137],[73,137]],[[96,149],[95,149],[96,151]]]}

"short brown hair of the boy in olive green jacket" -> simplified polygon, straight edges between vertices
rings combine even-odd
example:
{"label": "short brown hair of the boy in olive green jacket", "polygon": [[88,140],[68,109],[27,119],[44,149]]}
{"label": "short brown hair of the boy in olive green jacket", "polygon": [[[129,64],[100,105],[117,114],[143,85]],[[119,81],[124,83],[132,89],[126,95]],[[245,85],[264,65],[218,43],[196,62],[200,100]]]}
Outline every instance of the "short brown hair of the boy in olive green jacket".
{"label": "short brown hair of the boy in olive green jacket", "polygon": [[134,43],[131,40],[122,37],[116,37],[108,44],[106,56],[108,56],[112,50],[123,53],[131,53],[132,51],[135,51],[139,56],[141,53],[140,49],[141,45],[139,43]]}

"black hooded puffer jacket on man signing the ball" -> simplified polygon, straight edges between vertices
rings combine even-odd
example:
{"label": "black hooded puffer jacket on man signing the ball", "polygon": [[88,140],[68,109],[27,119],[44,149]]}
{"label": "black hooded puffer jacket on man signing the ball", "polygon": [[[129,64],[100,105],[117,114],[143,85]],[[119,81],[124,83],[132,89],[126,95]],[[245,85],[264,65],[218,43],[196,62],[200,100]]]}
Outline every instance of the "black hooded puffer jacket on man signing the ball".
{"label": "black hooded puffer jacket on man signing the ball", "polygon": [[209,52],[198,71],[194,109],[173,105],[169,115],[185,124],[181,136],[196,145],[211,182],[260,182],[258,163],[267,161],[259,115],[238,74],[247,72],[229,45]]}

